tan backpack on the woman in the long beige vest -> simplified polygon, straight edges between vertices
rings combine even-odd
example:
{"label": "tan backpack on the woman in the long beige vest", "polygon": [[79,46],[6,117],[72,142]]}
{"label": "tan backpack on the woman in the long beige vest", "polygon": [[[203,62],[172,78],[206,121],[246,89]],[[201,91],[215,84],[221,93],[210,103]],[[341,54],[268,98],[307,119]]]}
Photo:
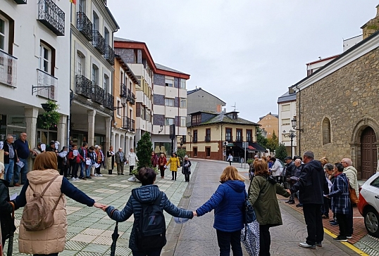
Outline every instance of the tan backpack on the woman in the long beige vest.
{"label": "tan backpack on the woman in the long beige vest", "polygon": [[59,200],[62,198],[59,196],[56,204],[54,205],[53,210],[49,210],[49,205],[44,201],[44,193],[47,188],[58,178],[59,175],[51,179],[49,184],[47,184],[46,188],[42,193],[35,192],[32,186],[29,186],[33,191],[33,198],[26,203],[23,210],[23,226],[27,231],[41,231],[47,229],[48,227],[54,224],[54,211],[56,206],[59,203]]}

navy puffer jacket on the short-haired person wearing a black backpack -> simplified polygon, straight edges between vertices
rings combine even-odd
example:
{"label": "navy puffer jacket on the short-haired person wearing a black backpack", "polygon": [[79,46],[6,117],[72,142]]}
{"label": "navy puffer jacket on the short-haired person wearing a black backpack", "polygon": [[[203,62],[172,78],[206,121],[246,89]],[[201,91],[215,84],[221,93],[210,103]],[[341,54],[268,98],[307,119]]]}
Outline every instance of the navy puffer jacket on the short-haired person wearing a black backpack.
{"label": "navy puffer jacket on the short-haired person wearing a black backpack", "polygon": [[[130,216],[134,216],[135,221],[133,222],[132,233],[130,233],[129,239],[129,248],[132,250],[138,250],[137,245],[135,243],[135,229],[139,223],[139,215],[142,210],[142,203],[153,203],[156,198],[159,197],[159,187],[156,185],[145,185],[140,186],[139,188],[134,188],[132,190],[132,195],[130,196],[128,203],[126,203],[124,209],[122,211],[115,210],[112,215],[111,212],[114,209],[113,206],[109,206],[106,208],[106,213],[111,219],[116,220],[116,222],[125,222],[125,220],[129,219]],[[175,205],[173,205],[170,200],[168,200],[165,193],[163,193],[163,197],[161,200],[161,204],[159,205],[163,210],[168,212],[168,214],[173,215],[174,217],[183,217],[192,219],[194,217],[191,211],[179,209]]]}

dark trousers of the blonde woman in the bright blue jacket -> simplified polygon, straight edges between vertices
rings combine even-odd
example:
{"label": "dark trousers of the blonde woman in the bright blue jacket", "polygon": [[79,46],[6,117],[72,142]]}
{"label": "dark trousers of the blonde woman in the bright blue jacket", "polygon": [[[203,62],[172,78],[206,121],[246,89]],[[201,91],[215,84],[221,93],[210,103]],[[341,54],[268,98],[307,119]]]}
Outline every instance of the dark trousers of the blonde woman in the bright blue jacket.
{"label": "dark trousers of the blonde woman in the bright blue jacket", "polygon": [[242,256],[241,231],[225,232],[216,229],[220,256],[230,255],[230,245],[232,245],[233,256]]}

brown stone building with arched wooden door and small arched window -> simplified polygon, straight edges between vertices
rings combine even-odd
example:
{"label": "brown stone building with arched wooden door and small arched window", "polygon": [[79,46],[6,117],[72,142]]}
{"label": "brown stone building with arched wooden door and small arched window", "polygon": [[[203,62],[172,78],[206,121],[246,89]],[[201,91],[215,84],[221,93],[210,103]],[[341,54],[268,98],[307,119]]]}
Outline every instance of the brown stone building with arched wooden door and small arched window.
{"label": "brown stone building with arched wooden door and small arched window", "polygon": [[366,32],[372,23],[363,27],[364,41],[292,87],[302,151],[330,162],[352,158],[359,179],[375,173],[379,152],[379,32]]}

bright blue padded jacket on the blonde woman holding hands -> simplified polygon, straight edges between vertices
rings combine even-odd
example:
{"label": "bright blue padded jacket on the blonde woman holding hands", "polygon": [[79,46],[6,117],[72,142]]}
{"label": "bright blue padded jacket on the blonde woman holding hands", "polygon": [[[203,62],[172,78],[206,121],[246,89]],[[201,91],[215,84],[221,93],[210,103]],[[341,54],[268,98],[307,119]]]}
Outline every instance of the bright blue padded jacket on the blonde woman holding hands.
{"label": "bright blue padded jacket on the blonde woman holding hands", "polygon": [[241,230],[244,226],[242,210],[246,198],[244,182],[225,181],[218,186],[213,196],[196,210],[197,216],[205,215],[214,209],[213,228],[225,232]]}

